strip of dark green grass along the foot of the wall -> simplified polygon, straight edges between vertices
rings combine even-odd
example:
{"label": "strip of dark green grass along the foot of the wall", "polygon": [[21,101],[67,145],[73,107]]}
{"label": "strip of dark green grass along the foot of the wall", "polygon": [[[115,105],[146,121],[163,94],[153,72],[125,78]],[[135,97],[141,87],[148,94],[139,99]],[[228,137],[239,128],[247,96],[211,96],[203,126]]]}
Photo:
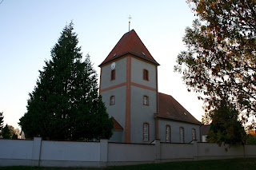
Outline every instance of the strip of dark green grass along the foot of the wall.
{"label": "strip of dark green grass along the foot of the wall", "polygon": [[43,167],[0,167],[0,170],[83,170],[83,169],[256,169],[256,158],[248,159],[235,159],[235,160],[201,160],[190,162],[168,162],[162,164],[140,164],[121,167],[108,167],[108,168],[43,168]]}

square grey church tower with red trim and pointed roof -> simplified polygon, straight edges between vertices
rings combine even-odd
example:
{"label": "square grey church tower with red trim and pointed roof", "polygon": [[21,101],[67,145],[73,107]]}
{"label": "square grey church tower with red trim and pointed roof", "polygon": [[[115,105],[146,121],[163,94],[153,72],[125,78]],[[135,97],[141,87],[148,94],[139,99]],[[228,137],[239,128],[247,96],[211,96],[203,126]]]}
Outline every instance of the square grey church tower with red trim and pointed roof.
{"label": "square grey church tower with red trim and pointed roof", "polygon": [[158,65],[134,30],[124,34],[99,65],[102,101],[114,117],[110,141],[150,143],[157,137]]}

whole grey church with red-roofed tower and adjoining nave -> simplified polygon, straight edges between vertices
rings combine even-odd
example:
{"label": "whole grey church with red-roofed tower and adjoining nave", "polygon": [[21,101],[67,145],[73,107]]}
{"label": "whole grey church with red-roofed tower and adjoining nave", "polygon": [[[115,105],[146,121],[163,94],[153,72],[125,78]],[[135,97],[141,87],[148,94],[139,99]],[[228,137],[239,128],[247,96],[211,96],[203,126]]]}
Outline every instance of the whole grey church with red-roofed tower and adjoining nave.
{"label": "whole grey church with red-roofed tower and adjoining nave", "polygon": [[99,93],[114,117],[110,141],[200,141],[201,123],[174,97],[158,93],[158,66],[134,30],[124,34],[99,65]]}

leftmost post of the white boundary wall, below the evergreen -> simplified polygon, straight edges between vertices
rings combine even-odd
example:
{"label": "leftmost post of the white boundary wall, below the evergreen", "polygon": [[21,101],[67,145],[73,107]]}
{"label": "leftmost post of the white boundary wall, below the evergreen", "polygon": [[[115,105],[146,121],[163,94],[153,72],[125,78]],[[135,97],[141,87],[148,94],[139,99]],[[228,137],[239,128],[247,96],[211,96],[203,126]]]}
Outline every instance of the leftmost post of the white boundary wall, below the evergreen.
{"label": "leftmost post of the white boundary wall, below the evergreen", "polygon": [[41,155],[42,137],[34,137],[32,148],[33,166],[39,166]]}

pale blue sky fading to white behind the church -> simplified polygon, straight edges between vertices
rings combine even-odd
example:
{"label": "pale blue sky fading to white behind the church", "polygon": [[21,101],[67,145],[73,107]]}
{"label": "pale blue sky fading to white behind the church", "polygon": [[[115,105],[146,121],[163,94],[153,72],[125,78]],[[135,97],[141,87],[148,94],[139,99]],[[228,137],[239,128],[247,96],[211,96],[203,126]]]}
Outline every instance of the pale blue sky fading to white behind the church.
{"label": "pale blue sky fading to white behind the church", "polygon": [[84,56],[94,69],[128,31],[128,17],[158,67],[158,91],[172,95],[199,121],[202,102],[186,91],[182,75],[174,73],[182,37],[194,14],[186,0],[4,0],[0,5],[0,112],[5,124],[18,127],[26,113],[28,93],[36,85],[38,70],[50,59],[50,49],[71,20]]}

